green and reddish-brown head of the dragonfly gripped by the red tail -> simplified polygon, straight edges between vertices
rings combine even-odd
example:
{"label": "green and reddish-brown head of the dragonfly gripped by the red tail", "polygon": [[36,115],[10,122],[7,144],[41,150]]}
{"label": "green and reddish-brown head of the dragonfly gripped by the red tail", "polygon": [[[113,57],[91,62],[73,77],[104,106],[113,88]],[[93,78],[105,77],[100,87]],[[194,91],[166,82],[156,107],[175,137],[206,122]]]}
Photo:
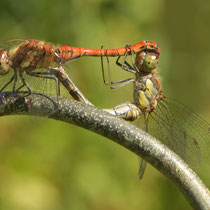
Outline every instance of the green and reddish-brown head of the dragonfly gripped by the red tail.
{"label": "green and reddish-brown head of the dragonfly gripped by the red tail", "polygon": [[157,68],[159,53],[142,51],[136,55],[136,67],[140,72],[150,73]]}

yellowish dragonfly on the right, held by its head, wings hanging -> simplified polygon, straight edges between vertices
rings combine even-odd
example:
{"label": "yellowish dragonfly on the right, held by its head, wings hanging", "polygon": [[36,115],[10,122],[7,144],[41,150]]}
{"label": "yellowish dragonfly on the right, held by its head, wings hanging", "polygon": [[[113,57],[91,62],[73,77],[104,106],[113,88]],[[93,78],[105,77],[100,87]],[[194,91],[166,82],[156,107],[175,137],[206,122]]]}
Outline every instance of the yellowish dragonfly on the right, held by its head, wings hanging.
{"label": "yellowish dragonfly on the right, held by its head, wings hanging", "polygon": [[[134,54],[132,65],[122,62],[121,68],[135,78],[118,81],[117,87],[133,83],[134,100],[104,110],[127,121],[137,120],[141,129],[166,144],[191,167],[198,167],[203,158],[210,157],[210,125],[185,105],[164,95],[158,78],[160,50],[157,49]],[[140,179],[146,163],[141,159]]]}

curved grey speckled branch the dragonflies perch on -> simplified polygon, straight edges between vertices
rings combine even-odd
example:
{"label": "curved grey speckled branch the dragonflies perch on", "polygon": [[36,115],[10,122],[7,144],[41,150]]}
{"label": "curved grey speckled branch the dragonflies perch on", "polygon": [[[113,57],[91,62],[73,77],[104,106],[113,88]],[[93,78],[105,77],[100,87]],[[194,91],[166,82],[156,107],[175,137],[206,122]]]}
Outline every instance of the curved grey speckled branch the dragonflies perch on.
{"label": "curved grey speckled branch the dragonflies perch on", "polygon": [[194,209],[210,209],[210,192],[199,177],[155,138],[95,107],[66,98],[61,98],[57,106],[55,101],[55,97],[42,94],[19,97],[1,93],[0,116],[28,115],[33,110],[34,115],[50,114],[52,119],[75,124],[105,136],[141,156],[167,176]]}

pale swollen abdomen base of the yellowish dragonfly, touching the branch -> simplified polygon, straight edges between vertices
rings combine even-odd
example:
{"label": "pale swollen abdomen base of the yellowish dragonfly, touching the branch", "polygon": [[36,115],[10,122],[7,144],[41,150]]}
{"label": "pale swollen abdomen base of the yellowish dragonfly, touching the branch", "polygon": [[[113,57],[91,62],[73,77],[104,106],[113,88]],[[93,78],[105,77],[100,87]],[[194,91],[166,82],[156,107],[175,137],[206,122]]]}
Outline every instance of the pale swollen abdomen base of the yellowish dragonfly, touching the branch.
{"label": "pale swollen abdomen base of the yellowish dragonfly, touching the branch", "polygon": [[141,110],[130,102],[116,106],[113,109],[104,109],[104,111],[128,121],[134,121],[141,115]]}

